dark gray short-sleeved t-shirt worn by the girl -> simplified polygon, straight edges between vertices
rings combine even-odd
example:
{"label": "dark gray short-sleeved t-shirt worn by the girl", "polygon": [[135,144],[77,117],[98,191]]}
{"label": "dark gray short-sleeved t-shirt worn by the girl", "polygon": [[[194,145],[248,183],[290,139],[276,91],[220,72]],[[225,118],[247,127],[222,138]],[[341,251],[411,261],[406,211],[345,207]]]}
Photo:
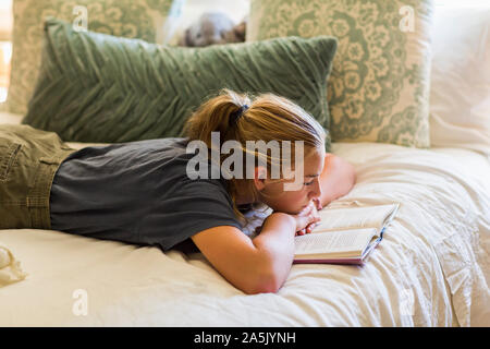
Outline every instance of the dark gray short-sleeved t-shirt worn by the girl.
{"label": "dark gray short-sleeved t-shirt worn by the girl", "polygon": [[242,229],[223,179],[186,174],[186,139],[89,146],[71,154],[51,188],[51,228],[167,251],[217,227]]}

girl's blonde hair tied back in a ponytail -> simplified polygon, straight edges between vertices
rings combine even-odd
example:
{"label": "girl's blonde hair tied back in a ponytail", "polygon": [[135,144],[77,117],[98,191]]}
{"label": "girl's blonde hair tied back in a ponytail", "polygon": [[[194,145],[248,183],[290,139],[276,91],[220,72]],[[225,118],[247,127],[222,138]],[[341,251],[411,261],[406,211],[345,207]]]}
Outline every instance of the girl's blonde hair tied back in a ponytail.
{"label": "girl's blonde hair tied back in a ponytail", "polygon": [[[328,135],[328,131],[308,112],[284,97],[269,93],[254,98],[230,89],[223,89],[218,96],[204,103],[184,125],[185,136],[189,141],[205,142],[208,149],[211,149],[211,132],[220,133],[220,147],[224,142],[234,140],[241,144],[244,154],[248,152],[246,141],[291,141],[293,144],[303,141],[305,157],[324,148]],[[292,159],[295,159],[294,148],[291,148]],[[221,155],[221,164],[228,156]],[[254,156],[264,157],[267,173],[270,173],[272,163],[278,160],[269,154],[255,153]],[[245,181],[243,188],[253,194],[254,202],[258,201],[258,192],[252,179],[226,180],[233,210],[240,219],[246,220],[236,205],[238,181]]]}

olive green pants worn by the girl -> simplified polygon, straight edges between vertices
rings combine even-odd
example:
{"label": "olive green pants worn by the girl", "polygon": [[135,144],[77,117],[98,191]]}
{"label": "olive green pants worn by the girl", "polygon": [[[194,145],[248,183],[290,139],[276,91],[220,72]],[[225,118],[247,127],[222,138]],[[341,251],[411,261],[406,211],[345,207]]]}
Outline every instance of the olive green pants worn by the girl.
{"label": "olive green pants worn by the girl", "polygon": [[54,132],[0,124],[0,229],[51,228],[51,183],[75,151]]}

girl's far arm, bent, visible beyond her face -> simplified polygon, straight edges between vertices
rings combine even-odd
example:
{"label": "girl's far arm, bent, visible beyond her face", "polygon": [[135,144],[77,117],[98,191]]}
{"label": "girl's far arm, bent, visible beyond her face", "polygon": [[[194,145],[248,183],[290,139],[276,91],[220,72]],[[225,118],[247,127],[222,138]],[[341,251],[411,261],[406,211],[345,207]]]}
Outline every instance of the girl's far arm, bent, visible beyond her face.
{"label": "girl's far arm, bent, visible beyond her face", "polygon": [[352,164],[328,153],[324,157],[323,171],[320,174],[322,206],[347,194],[356,182],[356,171]]}

